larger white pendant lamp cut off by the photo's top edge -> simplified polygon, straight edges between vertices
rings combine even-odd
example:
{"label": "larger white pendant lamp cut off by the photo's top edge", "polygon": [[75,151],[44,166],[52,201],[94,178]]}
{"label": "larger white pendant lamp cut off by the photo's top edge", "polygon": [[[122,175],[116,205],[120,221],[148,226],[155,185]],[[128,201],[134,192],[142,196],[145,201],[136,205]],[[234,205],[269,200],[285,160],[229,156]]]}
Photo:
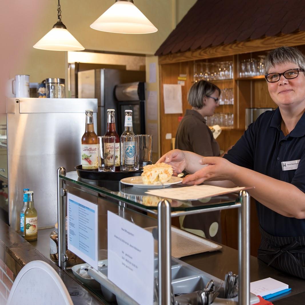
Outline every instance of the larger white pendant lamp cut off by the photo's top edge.
{"label": "larger white pendant lamp cut off by the photo's top edge", "polygon": [[90,27],[121,34],[148,34],[158,30],[134,5],[133,0],[116,0]]}

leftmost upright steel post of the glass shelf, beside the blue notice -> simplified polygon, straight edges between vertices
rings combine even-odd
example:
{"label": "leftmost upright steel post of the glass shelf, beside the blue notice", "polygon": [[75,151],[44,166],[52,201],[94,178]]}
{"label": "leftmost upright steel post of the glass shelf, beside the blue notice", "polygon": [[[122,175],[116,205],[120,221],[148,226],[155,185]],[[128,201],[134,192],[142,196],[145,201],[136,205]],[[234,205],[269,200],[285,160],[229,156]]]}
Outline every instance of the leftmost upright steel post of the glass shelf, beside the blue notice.
{"label": "leftmost upright steel post of the glass shelf, beside the blue notice", "polygon": [[66,176],[66,169],[59,167],[57,170],[57,223],[58,223],[58,267],[66,268],[66,217],[65,200],[66,190],[64,181],[59,175]]}

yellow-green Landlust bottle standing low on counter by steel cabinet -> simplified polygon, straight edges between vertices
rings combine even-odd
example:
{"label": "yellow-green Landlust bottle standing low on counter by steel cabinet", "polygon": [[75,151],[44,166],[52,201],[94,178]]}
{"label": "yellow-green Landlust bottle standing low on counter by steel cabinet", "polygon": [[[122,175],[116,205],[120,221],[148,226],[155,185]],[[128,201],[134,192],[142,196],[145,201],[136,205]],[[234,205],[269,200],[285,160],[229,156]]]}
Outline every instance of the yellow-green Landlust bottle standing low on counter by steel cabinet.
{"label": "yellow-green Landlust bottle standing low on counter by steel cabinet", "polygon": [[33,191],[28,191],[27,209],[24,212],[24,238],[28,241],[37,239],[37,211],[34,207]]}

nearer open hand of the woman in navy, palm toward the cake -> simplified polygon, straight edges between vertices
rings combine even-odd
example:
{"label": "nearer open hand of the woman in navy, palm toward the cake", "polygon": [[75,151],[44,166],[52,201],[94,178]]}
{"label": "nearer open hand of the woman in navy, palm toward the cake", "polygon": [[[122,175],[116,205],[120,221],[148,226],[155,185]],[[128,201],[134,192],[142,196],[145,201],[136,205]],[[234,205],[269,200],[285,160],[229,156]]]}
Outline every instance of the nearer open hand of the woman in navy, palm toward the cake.
{"label": "nearer open hand of the woman in navy, palm toward the cake", "polygon": [[199,185],[204,181],[234,181],[237,165],[228,160],[220,157],[204,157],[199,163],[206,166],[194,174],[187,175],[182,181],[183,184]]}

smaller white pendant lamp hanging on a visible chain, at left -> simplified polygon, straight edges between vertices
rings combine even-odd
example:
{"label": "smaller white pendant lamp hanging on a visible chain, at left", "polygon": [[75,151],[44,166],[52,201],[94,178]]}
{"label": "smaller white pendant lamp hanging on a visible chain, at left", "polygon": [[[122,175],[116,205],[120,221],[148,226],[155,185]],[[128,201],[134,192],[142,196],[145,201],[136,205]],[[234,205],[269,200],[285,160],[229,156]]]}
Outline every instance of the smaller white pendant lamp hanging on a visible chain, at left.
{"label": "smaller white pendant lamp hanging on a visible chain, at left", "polygon": [[53,25],[44,37],[42,37],[33,48],[50,51],[80,51],[85,48],[73,37],[61,21],[61,10],[58,0],[58,21]]}

